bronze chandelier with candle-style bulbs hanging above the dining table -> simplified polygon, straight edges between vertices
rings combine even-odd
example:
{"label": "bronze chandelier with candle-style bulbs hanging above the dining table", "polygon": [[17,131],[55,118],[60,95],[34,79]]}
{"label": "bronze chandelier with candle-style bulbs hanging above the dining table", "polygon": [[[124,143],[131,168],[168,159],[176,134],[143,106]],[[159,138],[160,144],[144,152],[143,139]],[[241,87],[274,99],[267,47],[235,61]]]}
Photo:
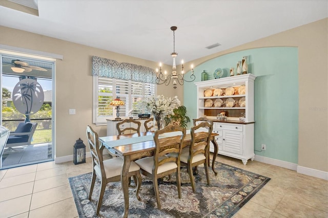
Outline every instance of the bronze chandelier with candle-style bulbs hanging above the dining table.
{"label": "bronze chandelier with candle-style bulbs hanging above the dining table", "polygon": [[178,56],[178,53],[175,52],[175,35],[174,35],[174,31],[176,31],[177,27],[173,26],[171,27],[171,30],[173,31],[173,53],[171,53],[171,56],[173,57],[173,66],[172,66],[172,74],[167,75],[167,72],[165,71],[165,73],[162,73],[162,66],[161,63],[159,63],[159,73],[158,73],[158,69],[156,69],[156,83],[157,84],[165,84],[165,85],[169,85],[171,82],[171,79],[173,81],[173,88],[176,89],[176,85],[177,82],[180,85],[183,85],[183,83],[186,82],[192,82],[195,80],[195,75],[194,75],[194,69],[193,66],[191,66],[192,70],[191,70],[191,75],[190,75],[190,79],[191,80],[186,80],[183,76],[183,60],[181,61],[181,73],[177,74],[176,73],[176,66],[175,66],[175,58],[176,56]]}

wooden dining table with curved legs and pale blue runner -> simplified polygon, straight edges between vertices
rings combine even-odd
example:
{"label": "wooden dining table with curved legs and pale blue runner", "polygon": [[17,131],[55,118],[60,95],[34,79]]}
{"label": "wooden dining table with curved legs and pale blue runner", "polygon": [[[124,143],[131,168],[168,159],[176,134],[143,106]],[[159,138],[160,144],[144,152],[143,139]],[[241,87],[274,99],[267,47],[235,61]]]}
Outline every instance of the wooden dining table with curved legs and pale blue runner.
{"label": "wooden dining table with curved legs and pale blue runner", "polygon": [[[176,135],[174,134],[176,133]],[[133,134],[99,137],[100,146],[104,146],[117,156],[121,156],[124,162],[121,170],[121,186],[124,195],[125,208],[122,217],[126,218],[129,214],[129,178],[128,172],[131,161],[142,157],[151,157],[155,150],[155,141],[153,138],[154,132],[140,132]],[[170,135],[160,137],[176,137],[181,132],[173,132]],[[218,134],[211,133],[211,141],[214,145],[214,154],[212,160],[212,170],[217,176],[217,171],[214,167],[215,159],[218,153],[218,144],[215,141],[215,136]],[[182,147],[186,147],[191,142],[190,129],[187,130]],[[208,163],[210,165],[210,162]]]}

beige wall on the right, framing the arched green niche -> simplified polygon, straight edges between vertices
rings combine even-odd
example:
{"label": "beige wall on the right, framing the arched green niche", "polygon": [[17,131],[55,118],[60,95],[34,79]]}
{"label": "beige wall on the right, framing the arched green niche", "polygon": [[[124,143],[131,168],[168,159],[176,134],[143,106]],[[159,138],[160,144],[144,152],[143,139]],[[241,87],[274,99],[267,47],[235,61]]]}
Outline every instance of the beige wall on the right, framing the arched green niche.
{"label": "beige wall on the right, framing the arched green niche", "polygon": [[328,172],[328,18],[192,62],[197,66],[224,54],[276,46],[298,48],[298,165]]}

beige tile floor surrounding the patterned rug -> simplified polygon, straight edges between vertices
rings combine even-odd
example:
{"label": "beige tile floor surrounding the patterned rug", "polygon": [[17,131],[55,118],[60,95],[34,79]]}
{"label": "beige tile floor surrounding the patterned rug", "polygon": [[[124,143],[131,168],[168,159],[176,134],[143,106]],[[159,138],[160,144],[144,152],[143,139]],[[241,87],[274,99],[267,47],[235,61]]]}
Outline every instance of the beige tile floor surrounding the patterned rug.
{"label": "beige tile floor surrounding the patterned rug", "polygon": [[[328,181],[257,161],[218,160],[271,178],[234,217],[328,217]],[[90,158],[0,170],[0,217],[78,217],[68,178],[91,170]]]}

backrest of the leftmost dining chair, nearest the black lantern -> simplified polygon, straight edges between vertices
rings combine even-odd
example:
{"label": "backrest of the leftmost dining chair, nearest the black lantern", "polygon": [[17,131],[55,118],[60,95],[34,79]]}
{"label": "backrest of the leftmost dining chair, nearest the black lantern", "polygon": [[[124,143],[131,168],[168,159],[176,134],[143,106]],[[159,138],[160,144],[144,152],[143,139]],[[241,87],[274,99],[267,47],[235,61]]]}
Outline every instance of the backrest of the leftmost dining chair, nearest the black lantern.
{"label": "backrest of the leftmost dining chair, nearest the black lantern", "polygon": [[99,148],[98,134],[94,132],[91,126],[87,126],[87,139],[90,147],[90,153],[93,161],[93,168],[98,178],[103,178],[106,181],[106,173],[103,163],[102,150]]}

